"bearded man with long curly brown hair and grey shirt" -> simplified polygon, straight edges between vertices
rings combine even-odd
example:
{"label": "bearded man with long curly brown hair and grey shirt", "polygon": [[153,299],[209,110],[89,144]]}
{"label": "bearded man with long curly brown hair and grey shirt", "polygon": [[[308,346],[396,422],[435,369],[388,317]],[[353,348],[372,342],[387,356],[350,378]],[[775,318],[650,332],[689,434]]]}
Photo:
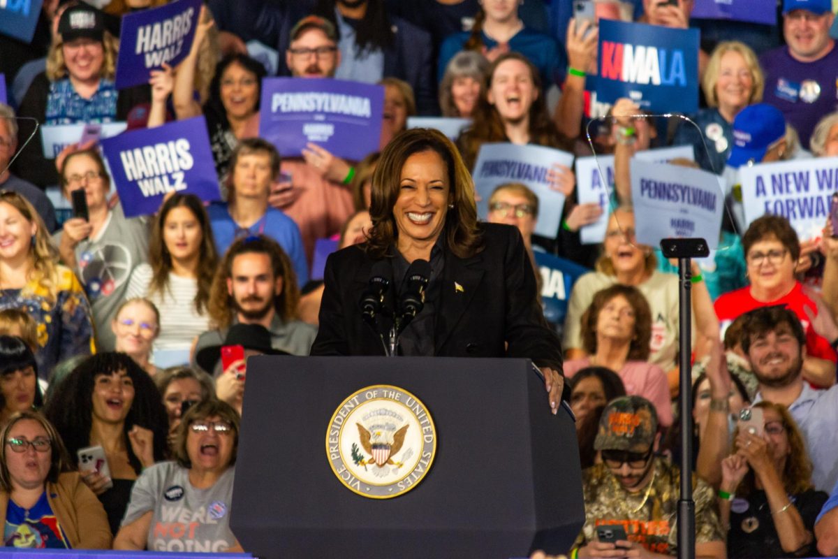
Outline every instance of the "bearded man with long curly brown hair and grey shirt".
{"label": "bearded man with long curly brown hair and grey shirt", "polygon": [[[209,316],[216,329],[199,336],[197,364],[206,370],[204,349],[222,345],[233,323],[259,324],[270,332],[273,349],[308,355],[317,329],[295,319],[299,299],[291,262],[276,241],[266,236],[234,241],[209,294]],[[206,371],[210,375],[215,359]]]}

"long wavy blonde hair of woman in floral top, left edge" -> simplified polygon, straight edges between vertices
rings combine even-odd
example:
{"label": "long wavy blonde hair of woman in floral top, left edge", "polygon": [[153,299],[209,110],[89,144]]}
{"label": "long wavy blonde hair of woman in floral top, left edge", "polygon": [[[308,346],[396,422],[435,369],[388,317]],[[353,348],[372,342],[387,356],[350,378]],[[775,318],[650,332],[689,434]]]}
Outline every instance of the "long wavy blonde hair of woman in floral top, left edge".
{"label": "long wavy blonde hair of woman in floral top, left edge", "polygon": [[34,209],[33,205],[22,194],[13,190],[0,190],[0,204],[9,204],[18,210],[23,219],[35,224],[34,243],[29,247],[29,271],[26,276],[26,287],[21,295],[27,297],[34,294],[36,289],[48,303],[55,303],[58,292],[58,251],[49,240],[49,231],[44,220]]}

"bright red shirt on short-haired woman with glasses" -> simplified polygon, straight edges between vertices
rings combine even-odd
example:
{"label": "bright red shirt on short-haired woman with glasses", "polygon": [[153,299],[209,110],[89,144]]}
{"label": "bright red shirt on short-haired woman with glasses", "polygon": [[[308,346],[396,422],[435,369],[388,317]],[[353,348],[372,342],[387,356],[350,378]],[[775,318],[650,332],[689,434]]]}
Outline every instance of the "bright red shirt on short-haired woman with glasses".
{"label": "bright red shirt on short-haired woman with glasses", "polygon": [[724,336],[727,327],[740,314],[753,311],[754,308],[772,307],[773,305],[784,305],[800,319],[800,323],[803,324],[803,329],[806,332],[807,355],[828,359],[833,363],[838,361],[838,355],[835,355],[835,350],[832,349],[829,340],[816,334],[809,323],[809,317],[806,316],[803,308],[806,306],[815,311],[817,305],[803,292],[803,286],[800,285],[800,282],[794,282],[792,290],[775,301],[758,301],[751,296],[751,287],[742,287],[742,289],[725,293],[717,298],[713,307],[716,309],[716,316],[719,318],[719,323],[722,326],[722,336]]}

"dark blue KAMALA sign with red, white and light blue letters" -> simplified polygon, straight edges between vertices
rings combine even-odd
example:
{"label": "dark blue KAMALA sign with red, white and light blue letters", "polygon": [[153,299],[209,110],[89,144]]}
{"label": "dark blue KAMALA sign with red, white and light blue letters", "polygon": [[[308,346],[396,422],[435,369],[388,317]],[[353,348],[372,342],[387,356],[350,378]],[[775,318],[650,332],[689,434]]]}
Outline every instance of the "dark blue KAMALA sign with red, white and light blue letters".
{"label": "dark blue KAMALA sign with red, white and light blue letters", "polygon": [[597,99],[629,97],[641,109],[698,110],[698,29],[599,22]]}

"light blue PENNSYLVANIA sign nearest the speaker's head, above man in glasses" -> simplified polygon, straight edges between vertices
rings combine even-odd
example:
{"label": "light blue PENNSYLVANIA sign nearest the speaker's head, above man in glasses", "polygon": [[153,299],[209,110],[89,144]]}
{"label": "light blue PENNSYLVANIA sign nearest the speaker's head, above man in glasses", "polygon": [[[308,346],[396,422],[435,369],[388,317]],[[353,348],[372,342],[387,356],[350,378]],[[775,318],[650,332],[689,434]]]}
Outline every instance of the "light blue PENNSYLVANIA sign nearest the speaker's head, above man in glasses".
{"label": "light blue PENNSYLVANIA sign nearest the speaker's head, above man in glasses", "polygon": [[512,143],[484,143],[480,147],[472,177],[480,200],[477,213],[489,215],[489,196],[504,183],[525,184],[538,196],[538,223],[535,234],[552,239],[561,223],[565,195],[550,187],[547,172],[554,163],[571,167],[573,156],[543,146],[516,146]]}

